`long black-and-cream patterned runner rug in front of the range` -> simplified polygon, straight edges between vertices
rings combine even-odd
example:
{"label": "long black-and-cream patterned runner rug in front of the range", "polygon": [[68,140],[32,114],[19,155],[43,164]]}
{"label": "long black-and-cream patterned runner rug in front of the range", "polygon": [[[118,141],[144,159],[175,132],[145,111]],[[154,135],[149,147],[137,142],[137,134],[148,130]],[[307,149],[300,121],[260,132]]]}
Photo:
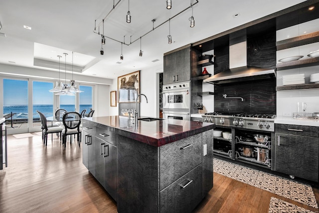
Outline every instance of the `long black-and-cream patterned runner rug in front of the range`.
{"label": "long black-and-cream patterned runner rug in front of the range", "polygon": [[217,158],[214,158],[214,172],[318,209],[318,203],[310,185]]}

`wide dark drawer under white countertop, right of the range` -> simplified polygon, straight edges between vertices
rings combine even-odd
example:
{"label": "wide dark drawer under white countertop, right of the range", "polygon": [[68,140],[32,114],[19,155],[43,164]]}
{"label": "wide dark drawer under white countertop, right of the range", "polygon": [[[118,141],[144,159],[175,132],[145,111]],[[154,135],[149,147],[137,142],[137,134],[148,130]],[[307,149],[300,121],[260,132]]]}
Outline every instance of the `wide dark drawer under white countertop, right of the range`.
{"label": "wide dark drawer under white countertop, right of the range", "polygon": [[319,137],[319,127],[291,125],[291,124],[275,124],[276,133],[303,135],[310,137]]}

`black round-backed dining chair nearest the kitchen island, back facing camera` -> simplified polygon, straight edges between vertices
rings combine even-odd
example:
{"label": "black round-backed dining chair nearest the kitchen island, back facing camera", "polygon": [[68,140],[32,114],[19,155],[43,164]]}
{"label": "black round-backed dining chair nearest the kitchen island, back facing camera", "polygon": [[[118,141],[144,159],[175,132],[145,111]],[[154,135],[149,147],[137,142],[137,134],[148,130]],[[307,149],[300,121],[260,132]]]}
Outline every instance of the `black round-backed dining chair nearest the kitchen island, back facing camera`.
{"label": "black round-backed dining chair nearest the kitchen island, back facing camera", "polygon": [[[66,139],[68,135],[77,135],[77,140],[80,146],[80,136],[82,133],[81,114],[78,112],[67,112],[63,115],[62,119],[64,129],[62,130],[62,144],[66,148]],[[70,137],[71,144],[72,137]]]}

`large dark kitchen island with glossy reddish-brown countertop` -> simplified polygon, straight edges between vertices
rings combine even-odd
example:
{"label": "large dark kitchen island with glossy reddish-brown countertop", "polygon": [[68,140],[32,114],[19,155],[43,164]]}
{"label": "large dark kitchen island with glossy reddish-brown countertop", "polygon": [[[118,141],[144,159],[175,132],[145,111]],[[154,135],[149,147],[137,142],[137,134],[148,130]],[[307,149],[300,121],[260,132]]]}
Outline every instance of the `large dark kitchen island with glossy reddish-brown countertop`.
{"label": "large dark kitchen island with glossy reddish-brown countertop", "polygon": [[213,186],[214,124],[83,119],[83,164],[119,213],[191,212]]}

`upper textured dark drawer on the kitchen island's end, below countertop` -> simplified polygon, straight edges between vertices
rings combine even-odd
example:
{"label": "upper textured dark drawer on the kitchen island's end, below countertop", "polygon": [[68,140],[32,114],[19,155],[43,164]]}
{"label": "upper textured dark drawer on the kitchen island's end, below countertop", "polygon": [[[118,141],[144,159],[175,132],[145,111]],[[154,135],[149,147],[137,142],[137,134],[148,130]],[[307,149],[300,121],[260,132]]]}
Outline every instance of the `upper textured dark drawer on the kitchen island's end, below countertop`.
{"label": "upper textured dark drawer on the kitchen island's end, below countertop", "polygon": [[202,162],[202,134],[160,147],[160,190]]}

